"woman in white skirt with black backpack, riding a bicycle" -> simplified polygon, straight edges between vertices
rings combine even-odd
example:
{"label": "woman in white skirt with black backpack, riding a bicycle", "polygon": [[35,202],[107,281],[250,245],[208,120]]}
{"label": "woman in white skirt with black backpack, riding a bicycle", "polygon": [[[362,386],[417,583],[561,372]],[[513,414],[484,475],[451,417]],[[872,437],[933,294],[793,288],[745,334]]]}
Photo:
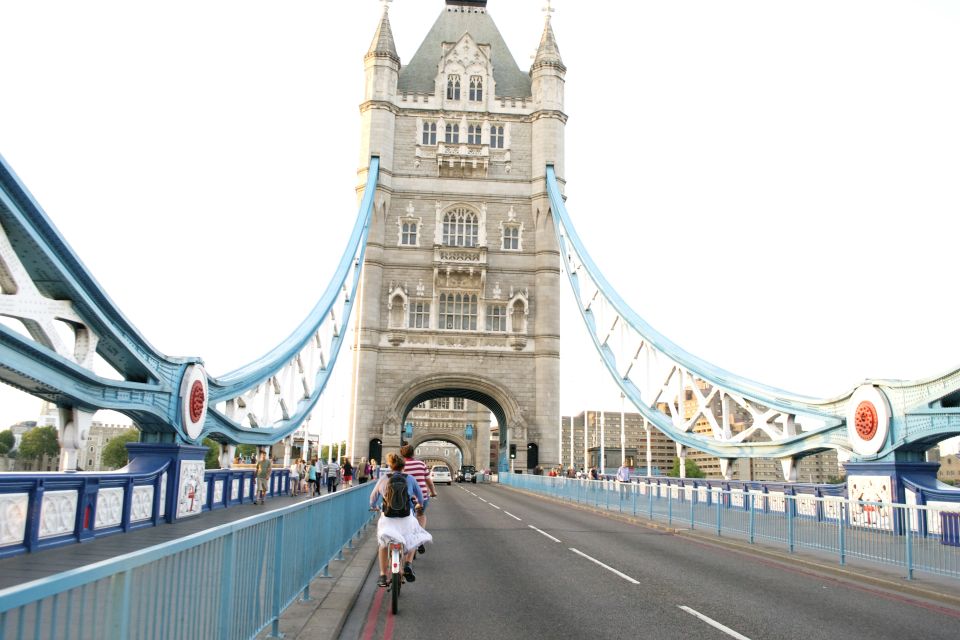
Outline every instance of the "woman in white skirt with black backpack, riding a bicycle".
{"label": "woman in white skirt with black backpack, riding a bicycle", "polygon": [[[377,520],[377,543],[380,547],[380,578],[377,580],[378,587],[389,585],[387,572],[390,570],[390,561],[387,557],[387,548],[391,541],[403,543],[403,548],[407,551],[404,555],[403,577],[407,582],[413,582],[417,577],[410,567],[410,561],[416,553],[417,546],[425,542],[432,542],[433,536],[420,526],[417,522],[416,514],[422,511],[423,493],[417,481],[409,474],[404,473],[405,460],[395,453],[387,454],[387,464],[390,465],[390,473],[385,473],[377,481],[370,493],[370,508],[376,510],[381,503],[384,504],[383,511],[380,512],[380,519]],[[403,478],[406,482],[407,495],[409,496],[407,515],[388,514],[389,499],[388,489],[391,487],[391,478]],[[393,485],[394,487],[396,485]],[[395,489],[394,489],[395,490]]]}

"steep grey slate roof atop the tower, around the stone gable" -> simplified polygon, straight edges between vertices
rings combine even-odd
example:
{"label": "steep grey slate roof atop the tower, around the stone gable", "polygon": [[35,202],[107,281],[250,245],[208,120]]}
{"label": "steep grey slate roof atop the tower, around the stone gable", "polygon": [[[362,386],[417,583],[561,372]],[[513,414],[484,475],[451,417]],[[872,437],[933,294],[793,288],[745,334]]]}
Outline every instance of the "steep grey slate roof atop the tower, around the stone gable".
{"label": "steep grey slate roof atop the tower, around the stone gable", "polygon": [[399,91],[433,93],[440,56],[443,55],[442,43],[457,42],[464,33],[469,33],[478,44],[490,45],[497,96],[523,98],[533,95],[530,76],[520,71],[493,18],[485,11],[464,13],[450,11],[446,6],[413,59],[400,69]]}

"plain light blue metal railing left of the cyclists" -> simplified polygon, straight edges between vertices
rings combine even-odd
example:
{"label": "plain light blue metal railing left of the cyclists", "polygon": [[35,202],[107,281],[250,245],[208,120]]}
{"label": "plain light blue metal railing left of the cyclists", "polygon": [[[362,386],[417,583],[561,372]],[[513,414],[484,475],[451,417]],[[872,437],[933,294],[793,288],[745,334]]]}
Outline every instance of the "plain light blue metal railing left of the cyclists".
{"label": "plain light blue metal railing left of the cyclists", "polygon": [[370,522],[355,487],[0,590],[0,638],[253,638]]}

